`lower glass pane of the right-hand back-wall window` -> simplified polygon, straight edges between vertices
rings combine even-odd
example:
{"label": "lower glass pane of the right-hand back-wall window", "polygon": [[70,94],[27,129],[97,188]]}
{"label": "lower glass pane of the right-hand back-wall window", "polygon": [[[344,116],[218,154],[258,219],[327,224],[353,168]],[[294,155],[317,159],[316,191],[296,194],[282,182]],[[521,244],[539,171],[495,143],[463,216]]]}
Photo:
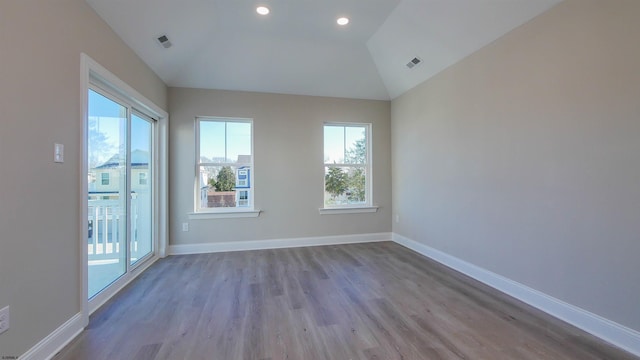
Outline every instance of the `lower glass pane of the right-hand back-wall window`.
{"label": "lower glass pane of the right-hand back-wall window", "polygon": [[326,166],[325,206],[366,204],[366,169],[360,166]]}

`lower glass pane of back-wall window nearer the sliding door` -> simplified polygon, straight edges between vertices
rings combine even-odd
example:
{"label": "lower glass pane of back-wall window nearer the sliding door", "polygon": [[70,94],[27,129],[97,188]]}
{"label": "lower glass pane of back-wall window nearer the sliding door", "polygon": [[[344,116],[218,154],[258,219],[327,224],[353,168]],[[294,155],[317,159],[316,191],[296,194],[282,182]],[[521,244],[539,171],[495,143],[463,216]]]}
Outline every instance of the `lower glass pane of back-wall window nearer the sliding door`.
{"label": "lower glass pane of back-wall window nearer the sliding door", "polygon": [[249,166],[201,166],[199,208],[250,207]]}

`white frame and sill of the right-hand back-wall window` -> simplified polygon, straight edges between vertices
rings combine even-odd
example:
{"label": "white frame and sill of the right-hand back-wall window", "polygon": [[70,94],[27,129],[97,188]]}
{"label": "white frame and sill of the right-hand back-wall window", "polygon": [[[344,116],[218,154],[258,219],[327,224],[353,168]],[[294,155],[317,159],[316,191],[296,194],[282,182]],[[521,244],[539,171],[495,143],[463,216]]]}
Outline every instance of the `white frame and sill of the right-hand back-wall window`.
{"label": "white frame and sill of the right-hand back-wall window", "polygon": [[[358,167],[359,164],[334,164],[334,163],[326,163],[324,161],[324,129],[326,126],[342,126],[342,127],[364,127],[365,128],[365,138],[366,138],[366,161],[364,166],[366,177],[365,177],[365,202],[364,204],[344,204],[344,205],[334,205],[334,206],[326,206],[324,203],[324,193],[325,193],[325,169],[327,166],[338,166],[338,167]],[[357,123],[357,122],[334,122],[327,121],[322,125],[322,204],[323,206],[319,208],[319,212],[321,215],[336,215],[336,214],[354,214],[354,213],[373,213],[378,211],[378,207],[373,205],[373,151],[372,151],[372,127],[371,123]],[[346,150],[346,149],[345,149]]]}

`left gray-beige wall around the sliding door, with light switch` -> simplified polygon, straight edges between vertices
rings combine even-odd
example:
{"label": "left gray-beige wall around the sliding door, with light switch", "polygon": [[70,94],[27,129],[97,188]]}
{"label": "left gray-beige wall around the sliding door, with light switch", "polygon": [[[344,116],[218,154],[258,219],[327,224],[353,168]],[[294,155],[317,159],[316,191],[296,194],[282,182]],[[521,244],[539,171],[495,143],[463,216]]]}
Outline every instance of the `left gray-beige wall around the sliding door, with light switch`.
{"label": "left gray-beige wall around the sliding door, with light switch", "polygon": [[0,43],[0,308],[11,307],[0,356],[18,356],[80,311],[80,53],[167,104],[82,0],[0,1]]}

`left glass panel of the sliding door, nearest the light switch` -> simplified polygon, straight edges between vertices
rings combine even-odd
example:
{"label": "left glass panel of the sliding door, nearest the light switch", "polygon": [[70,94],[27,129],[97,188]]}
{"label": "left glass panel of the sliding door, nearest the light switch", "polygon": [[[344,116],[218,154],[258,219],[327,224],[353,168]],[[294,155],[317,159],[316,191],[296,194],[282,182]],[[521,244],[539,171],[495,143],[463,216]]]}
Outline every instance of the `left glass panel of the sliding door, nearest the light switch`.
{"label": "left glass panel of the sliding door, nearest the light switch", "polygon": [[88,298],[126,272],[127,108],[93,90],[88,94]]}

